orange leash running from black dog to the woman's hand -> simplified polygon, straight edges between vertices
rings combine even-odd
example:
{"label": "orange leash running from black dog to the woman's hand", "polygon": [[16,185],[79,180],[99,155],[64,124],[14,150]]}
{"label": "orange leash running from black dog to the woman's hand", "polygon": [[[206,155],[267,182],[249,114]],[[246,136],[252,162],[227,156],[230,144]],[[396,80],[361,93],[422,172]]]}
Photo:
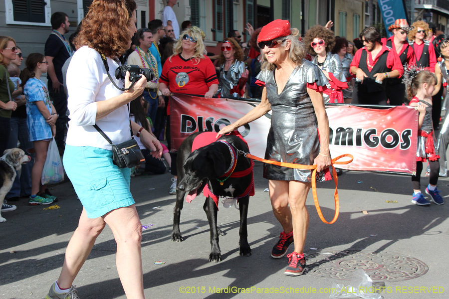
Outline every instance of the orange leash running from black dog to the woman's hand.
{"label": "orange leash running from black dog to the woman's hand", "polygon": [[[274,164],[274,165],[278,165],[278,166],[297,168],[297,169],[310,169],[310,170],[313,169],[313,171],[312,171],[312,195],[313,195],[313,201],[315,203],[316,211],[318,212],[318,216],[320,216],[321,221],[323,221],[324,223],[327,223],[327,224],[332,224],[335,221],[337,221],[338,214],[340,213],[340,204],[339,204],[338,190],[337,190],[338,176],[337,176],[337,171],[335,170],[335,167],[333,164],[343,165],[343,164],[351,163],[352,160],[354,160],[354,156],[352,154],[349,154],[349,153],[342,154],[336,158],[333,158],[331,161],[332,174],[334,176],[334,181],[335,181],[335,193],[334,193],[335,215],[334,215],[334,219],[332,219],[331,222],[327,222],[326,219],[324,219],[323,213],[321,212],[320,204],[318,203],[318,196],[316,194],[316,179],[314,179],[314,178],[316,178],[316,165],[301,165],[301,164],[293,164],[293,163],[286,163],[286,162],[277,162],[277,161],[265,160],[265,159],[256,157],[250,153],[245,153],[245,152],[242,152],[242,153],[244,153],[244,155],[248,158],[258,160],[258,161],[268,163],[268,164]],[[350,157],[351,159],[348,161],[339,162],[338,160],[343,157]]]}

